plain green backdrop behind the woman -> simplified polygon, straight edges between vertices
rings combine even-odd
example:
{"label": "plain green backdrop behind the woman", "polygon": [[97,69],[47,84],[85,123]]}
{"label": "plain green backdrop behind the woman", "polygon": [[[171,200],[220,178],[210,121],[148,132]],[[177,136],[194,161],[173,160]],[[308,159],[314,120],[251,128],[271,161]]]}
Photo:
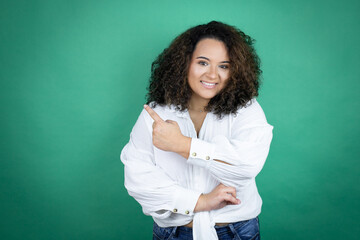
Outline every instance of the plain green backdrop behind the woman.
{"label": "plain green backdrop behind the woman", "polygon": [[150,65],[220,20],[257,40],[263,239],[358,239],[359,1],[1,1],[0,238],[151,239],[121,149]]}

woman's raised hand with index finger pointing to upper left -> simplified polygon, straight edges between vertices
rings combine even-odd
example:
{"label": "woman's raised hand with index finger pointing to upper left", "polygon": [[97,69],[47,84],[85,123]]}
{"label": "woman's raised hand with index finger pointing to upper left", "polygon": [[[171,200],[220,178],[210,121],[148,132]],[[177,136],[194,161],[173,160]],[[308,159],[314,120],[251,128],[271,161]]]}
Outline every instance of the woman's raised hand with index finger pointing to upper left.
{"label": "woman's raised hand with index finger pointing to upper left", "polygon": [[182,135],[179,124],[172,120],[164,121],[148,105],[144,109],[154,120],[153,123],[153,144],[155,147],[164,150],[176,152],[184,158],[189,157],[191,138]]}

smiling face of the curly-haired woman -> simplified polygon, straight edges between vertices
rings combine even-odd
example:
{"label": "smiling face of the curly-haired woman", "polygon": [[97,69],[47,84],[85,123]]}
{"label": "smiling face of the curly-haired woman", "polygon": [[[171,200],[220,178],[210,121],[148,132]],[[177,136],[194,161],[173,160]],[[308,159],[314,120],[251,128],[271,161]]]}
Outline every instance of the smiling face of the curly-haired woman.
{"label": "smiling face of the curly-haired woman", "polygon": [[188,72],[188,83],[193,91],[190,102],[207,104],[216,96],[230,76],[229,67],[229,56],[223,42],[210,38],[199,41]]}

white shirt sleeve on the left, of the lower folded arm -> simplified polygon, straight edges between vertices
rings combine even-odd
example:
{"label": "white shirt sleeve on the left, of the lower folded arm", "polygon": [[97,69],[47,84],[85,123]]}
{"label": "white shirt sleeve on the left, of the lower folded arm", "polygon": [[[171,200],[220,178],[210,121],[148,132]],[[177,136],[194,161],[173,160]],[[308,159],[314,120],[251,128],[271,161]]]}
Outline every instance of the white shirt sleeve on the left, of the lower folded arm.
{"label": "white shirt sleeve on the left, of the lower folded arm", "polygon": [[143,110],[131,132],[129,143],[121,152],[125,165],[125,187],[147,215],[159,219],[165,219],[171,213],[191,216],[201,192],[178,185],[156,165],[152,121]]}

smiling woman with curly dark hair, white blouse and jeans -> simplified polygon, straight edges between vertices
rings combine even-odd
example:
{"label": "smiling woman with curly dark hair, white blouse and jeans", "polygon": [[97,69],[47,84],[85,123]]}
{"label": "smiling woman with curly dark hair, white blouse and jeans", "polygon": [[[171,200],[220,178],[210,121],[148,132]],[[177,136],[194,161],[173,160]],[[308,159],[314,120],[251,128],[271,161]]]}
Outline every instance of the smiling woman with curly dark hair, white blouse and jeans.
{"label": "smiling woman with curly dark hair, white blouse and jeans", "polygon": [[154,239],[260,239],[255,177],[273,127],[255,99],[252,42],[212,21],[179,35],[152,64],[148,105],[121,160]]}

